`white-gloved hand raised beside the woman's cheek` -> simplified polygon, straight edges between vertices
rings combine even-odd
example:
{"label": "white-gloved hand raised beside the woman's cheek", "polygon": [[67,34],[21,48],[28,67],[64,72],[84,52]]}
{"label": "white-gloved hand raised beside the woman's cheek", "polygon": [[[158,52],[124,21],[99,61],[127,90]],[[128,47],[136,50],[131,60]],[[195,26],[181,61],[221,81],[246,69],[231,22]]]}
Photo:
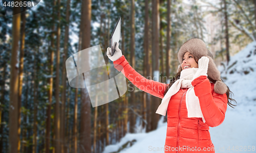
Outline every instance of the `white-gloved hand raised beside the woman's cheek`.
{"label": "white-gloved hand raised beside the woman's cheek", "polygon": [[205,56],[201,57],[198,60],[198,70],[195,76],[193,77],[193,80],[201,75],[207,76],[208,63],[209,63],[209,58]]}

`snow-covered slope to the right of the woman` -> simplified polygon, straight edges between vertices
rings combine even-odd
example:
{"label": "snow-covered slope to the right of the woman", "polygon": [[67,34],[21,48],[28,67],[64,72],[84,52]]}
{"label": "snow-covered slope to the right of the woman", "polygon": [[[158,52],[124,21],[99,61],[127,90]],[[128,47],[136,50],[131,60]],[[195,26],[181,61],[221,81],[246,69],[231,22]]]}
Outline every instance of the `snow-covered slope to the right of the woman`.
{"label": "snow-covered slope to the right of the woman", "polygon": [[[256,42],[231,57],[229,64],[219,70],[237,106],[228,106],[224,122],[210,127],[212,143],[218,152],[223,147],[222,152],[245,151],[246,148],[248,151],[256,147]],[[234,150],[227,150],[232,147]],[[249,152],[256,152],[256,149]]]}

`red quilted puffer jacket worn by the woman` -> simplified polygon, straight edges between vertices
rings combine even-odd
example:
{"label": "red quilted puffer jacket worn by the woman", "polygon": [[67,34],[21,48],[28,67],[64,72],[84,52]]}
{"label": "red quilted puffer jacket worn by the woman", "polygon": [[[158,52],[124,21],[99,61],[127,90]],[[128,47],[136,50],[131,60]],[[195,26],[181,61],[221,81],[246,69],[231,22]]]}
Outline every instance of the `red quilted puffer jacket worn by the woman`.
{"label": "red quilted puffer jacket worn by the woman", "polygon": [[[122,72],[137,88],[153,96],[163,98],[165,83],[148,80],[136,72],[124,56],[114,61],[115,68]],[[200,76],[192,81],[195,94],[199,98],[202,118],[188,118],[186,108],[186,91],[180,89],[170,98],[167,108],[167,133],[164,152],[215,152],[210,140],[209,126],[220,125],[227,110],[227,95],[214,92],[214,83],[206,76]]]}

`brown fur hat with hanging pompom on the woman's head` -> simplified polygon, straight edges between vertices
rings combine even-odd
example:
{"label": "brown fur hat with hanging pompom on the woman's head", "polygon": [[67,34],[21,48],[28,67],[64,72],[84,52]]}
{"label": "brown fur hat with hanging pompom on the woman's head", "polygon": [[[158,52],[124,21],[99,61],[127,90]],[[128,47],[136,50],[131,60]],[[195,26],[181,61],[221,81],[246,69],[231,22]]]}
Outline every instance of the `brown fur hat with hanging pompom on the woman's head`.
{"label": "brown fur hat with hanging pompom on the woman's head", "polygon": [[220,71],[217,69],[216,64],[214,62],[214,57],[210,53],[210,51],[206,48],[206,45],[203,40],[198,38],[192,38],[187,40],[180,47],[178,52],[178,60],[180,64],[182,63],[183,56],[186,52],[191,53],[196,60],[198,61],[202,56],[206,56],[209,58],[207,75],[208,77],[216,80],[214,85],[214,90],[218,94],[224,94],[227,91],[227,86],[224,82],[221,81]]}

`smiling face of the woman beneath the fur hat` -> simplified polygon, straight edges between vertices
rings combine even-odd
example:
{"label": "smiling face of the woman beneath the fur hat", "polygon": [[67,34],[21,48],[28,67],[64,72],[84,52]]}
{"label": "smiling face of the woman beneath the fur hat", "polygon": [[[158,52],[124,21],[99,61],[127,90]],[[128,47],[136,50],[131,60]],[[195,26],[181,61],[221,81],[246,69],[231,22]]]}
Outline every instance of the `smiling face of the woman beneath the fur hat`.
{"label": "smiling face of the woman beneath the fur hat", "polygon": [[186,52],[183,56],[183,61],[181,63],[182,70],[189,68],[198,68],[198,63],[196,62],[194,56],[189,52]]}

